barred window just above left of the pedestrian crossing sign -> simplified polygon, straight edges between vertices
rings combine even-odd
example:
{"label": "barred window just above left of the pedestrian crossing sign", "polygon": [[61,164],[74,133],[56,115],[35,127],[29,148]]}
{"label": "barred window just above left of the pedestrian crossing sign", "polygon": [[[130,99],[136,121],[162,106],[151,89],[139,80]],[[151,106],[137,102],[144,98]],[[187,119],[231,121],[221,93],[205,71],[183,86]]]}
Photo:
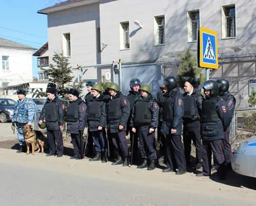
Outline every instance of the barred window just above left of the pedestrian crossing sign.
{"label": "barred window just above left of the pedestrian crossing sign", "polygon": [[187,40],[197,41],[197,32],[200,27],[200,13],[197,11],[187,12]]}

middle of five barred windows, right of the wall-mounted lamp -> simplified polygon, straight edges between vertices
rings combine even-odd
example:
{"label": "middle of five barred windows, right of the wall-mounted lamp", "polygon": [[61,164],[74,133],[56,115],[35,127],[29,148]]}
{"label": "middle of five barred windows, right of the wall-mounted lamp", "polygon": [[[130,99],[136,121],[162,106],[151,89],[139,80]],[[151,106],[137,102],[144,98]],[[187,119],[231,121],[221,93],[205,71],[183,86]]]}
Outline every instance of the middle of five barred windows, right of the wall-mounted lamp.
{"label": "middle of five barred windows, right of the wall-mounted lamp", "polygon": [[155,16],[155,45],[165,44],[165,22],[164,16]]}

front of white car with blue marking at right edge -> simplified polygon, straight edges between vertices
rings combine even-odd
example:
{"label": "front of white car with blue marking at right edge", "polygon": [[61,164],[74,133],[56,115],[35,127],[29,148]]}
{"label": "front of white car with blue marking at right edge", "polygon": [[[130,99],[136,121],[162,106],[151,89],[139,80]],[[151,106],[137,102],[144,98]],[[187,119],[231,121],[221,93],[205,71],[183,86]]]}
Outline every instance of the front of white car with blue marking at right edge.
{"label": "front of white car with blue marking at right edge", "polygon": [[246,139],[234,152],[231,161],[233,171],[256,177],[256,136]]}

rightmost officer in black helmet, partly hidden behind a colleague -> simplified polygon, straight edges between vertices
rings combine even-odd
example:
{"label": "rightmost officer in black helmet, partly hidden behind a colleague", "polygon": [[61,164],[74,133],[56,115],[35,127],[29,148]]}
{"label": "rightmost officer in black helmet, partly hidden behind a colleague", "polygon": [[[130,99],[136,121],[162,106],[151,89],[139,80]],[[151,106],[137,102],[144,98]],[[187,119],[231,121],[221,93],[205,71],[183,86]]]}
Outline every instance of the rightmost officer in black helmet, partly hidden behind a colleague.
{"label": "rightmost officer in black helmet, partly hidden behind a colleague", "polygon": [[[225,118],[227,119],[227,125],[224,126],[224,155],[225,163],[228,169],[231,169],[231,158],[232,150],[229,144],[229,133],[230,133],[230,123],[234,113],[234,108],[236,107],[236,98],[229,93],[229,82],[225,79],[217,80],[219,85],[219,95],[223,99],[222,106],[226,106],[226,112],[224,113]],[[224,104],[224,105],[223,105]]]}

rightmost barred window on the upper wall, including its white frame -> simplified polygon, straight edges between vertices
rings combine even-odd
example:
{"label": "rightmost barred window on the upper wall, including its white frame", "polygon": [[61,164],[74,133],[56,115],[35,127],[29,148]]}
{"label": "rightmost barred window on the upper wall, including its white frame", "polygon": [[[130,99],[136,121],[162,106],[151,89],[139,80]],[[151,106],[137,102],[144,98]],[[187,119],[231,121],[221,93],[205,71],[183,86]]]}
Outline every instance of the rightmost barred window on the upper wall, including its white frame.
{"label": "rightmost barred window on the upper wall, including its white frame", "polygon": [[222,38],[236,37],[236,8],[222,6]]}

